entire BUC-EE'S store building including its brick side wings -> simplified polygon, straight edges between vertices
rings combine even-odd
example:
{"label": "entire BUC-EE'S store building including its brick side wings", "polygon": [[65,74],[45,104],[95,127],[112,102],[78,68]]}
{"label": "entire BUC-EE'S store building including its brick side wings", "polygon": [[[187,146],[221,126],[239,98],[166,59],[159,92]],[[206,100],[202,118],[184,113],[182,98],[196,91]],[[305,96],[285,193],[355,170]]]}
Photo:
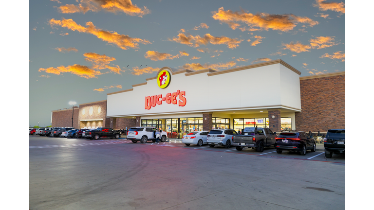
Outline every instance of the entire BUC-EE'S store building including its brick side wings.
{"label": "entire BUC-EE'S store building including its brick side wings", "polygon": [[[108,93],[106,101],[92,103],[94,108],[90,103],[75,108],[75,127],[154,126],[172,133],[172,138],[215,128],[258,126],[276,132],[344,128],[344,72],[300,74],[282,60],[219,71],[164,67],[145,83]],[[90,120],[98,108],[106,115]],[[52,126],[61,126],[54,125],[54,119],[64,116],[58,111],[70,111],[71,119],[71,109],[52,111]]]}

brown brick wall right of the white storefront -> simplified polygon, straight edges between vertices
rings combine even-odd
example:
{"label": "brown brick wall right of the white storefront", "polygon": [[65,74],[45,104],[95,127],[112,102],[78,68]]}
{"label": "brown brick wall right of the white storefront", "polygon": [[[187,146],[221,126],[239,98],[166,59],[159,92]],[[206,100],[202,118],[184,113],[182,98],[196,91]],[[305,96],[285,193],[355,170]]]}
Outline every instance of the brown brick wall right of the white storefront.
{"label": "brown brick wall right of the white storefront", "polygon": [[301,112],[295,113],[297,131],[345,129],[345,75],[300,80]]}

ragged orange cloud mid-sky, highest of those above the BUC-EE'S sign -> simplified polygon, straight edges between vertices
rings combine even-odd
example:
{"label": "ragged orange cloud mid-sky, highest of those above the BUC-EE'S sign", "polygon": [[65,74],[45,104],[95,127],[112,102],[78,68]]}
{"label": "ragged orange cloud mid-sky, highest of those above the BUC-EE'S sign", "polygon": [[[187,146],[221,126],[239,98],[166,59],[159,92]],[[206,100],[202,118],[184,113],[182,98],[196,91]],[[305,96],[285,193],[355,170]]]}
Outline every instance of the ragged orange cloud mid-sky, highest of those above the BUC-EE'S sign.
{"label": "ragged orange cloud mid-sky, highest of those above the BUC-EE'S sign", "polygon": [[199,35],[185,35],[183,33],[179,33],[178,38],[173,37],[172,39],[168,38],[168,41],[175,41],[181,44],[188,45],[190,47],[199,47],[200,45],[206,45],[207,43],[218,45],[218,44],[225,44],[229,49],[233,49],[239,46],[239,44],[243,41],[243,39],[237,38],[229,38],[226,36],[212,36],[210,34],[206,34],[203,37]]}

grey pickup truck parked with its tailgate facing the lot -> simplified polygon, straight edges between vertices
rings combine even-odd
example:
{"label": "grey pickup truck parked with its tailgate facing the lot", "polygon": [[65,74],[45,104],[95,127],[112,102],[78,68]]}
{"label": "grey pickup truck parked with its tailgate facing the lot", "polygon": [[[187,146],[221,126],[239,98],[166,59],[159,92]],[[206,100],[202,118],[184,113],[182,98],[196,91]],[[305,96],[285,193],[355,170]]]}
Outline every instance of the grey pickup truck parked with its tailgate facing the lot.
{"label": "grey pickup truck parked with its tailgate facing the lot", "polygon": [[278,137],[269,128],[246,127],[242,135],[232,136],[232,145],[236,150],[242,151],[244,147],[256,148],[257,152],[263,152],[264,147],[275,144],[275,138]]}

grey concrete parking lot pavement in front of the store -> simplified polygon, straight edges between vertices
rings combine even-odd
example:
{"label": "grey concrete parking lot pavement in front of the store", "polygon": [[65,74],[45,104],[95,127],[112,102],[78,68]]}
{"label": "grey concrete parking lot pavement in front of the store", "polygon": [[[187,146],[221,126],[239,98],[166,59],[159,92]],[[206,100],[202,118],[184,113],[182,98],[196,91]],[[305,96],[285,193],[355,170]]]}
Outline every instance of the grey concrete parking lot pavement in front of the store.
{"label": "grey concrete parking lot pavement in front of the store", "polygon": [[341,209],[344,154],[30,136],[30,209]]}

